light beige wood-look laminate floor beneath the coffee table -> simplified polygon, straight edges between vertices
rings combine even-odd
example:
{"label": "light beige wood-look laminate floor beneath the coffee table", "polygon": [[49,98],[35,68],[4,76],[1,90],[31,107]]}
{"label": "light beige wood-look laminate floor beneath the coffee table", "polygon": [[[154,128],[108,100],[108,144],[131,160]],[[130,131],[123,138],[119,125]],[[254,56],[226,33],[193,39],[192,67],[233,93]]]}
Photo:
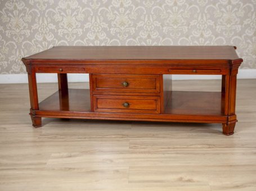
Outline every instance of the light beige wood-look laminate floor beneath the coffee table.
{"label": "light beige wood-look laminate floor beneath the coffee table", "polygon": [[[56,89],[39,84],[39,99]],[[229,137],[221,124],[43,119],[35,129],[29,107],[28,84],[0,84],[0,190],[256,190],[256,79],[237,81]]]}

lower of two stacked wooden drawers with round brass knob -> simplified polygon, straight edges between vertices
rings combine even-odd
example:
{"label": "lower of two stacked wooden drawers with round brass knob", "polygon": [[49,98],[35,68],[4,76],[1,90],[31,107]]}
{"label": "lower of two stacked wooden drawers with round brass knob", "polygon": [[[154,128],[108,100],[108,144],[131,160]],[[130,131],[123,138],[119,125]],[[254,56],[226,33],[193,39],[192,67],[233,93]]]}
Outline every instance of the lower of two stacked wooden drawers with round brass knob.
{"label": "lower of two stacked wooden drawers with round brass knob", "polygon": [[93,95],[96,112],[160,113],[160,97]]}

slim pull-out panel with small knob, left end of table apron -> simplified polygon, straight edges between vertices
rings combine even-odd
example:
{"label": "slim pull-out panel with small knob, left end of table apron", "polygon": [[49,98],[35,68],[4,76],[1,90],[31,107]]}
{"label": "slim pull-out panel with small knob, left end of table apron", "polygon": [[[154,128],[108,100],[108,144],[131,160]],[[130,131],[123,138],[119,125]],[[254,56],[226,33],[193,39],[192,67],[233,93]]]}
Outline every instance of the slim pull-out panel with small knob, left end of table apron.
{"label": "slim pull-out panel with small knob, left end of table apron", "polygon": [[46,73],[84,73],[84,67],[38,67],[37,72]]}

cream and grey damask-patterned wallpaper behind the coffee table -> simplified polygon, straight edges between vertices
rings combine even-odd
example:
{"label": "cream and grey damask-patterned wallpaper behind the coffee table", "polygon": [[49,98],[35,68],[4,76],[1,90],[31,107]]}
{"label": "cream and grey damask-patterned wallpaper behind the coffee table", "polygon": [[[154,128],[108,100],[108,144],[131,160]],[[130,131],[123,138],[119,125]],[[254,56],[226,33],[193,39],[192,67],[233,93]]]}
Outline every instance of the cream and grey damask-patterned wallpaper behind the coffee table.
{"label": "cream and grey damask-patterned wallpaper behind the coffee table", "polygon": [[0,0],[0,73],[52,46],[232,45],[256,68],[256,0]]}

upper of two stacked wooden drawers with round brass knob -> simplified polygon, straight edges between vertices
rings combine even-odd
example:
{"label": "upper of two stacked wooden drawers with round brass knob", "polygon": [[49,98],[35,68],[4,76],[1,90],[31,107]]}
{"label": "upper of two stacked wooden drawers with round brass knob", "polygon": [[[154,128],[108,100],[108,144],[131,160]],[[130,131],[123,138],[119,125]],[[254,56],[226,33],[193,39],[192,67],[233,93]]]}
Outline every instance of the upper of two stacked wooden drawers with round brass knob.
{"label": "upper of two stacked wooden drawers with round brass knob", "polygon": [[93,92],[160,93],[160,75],[93,74]]}

